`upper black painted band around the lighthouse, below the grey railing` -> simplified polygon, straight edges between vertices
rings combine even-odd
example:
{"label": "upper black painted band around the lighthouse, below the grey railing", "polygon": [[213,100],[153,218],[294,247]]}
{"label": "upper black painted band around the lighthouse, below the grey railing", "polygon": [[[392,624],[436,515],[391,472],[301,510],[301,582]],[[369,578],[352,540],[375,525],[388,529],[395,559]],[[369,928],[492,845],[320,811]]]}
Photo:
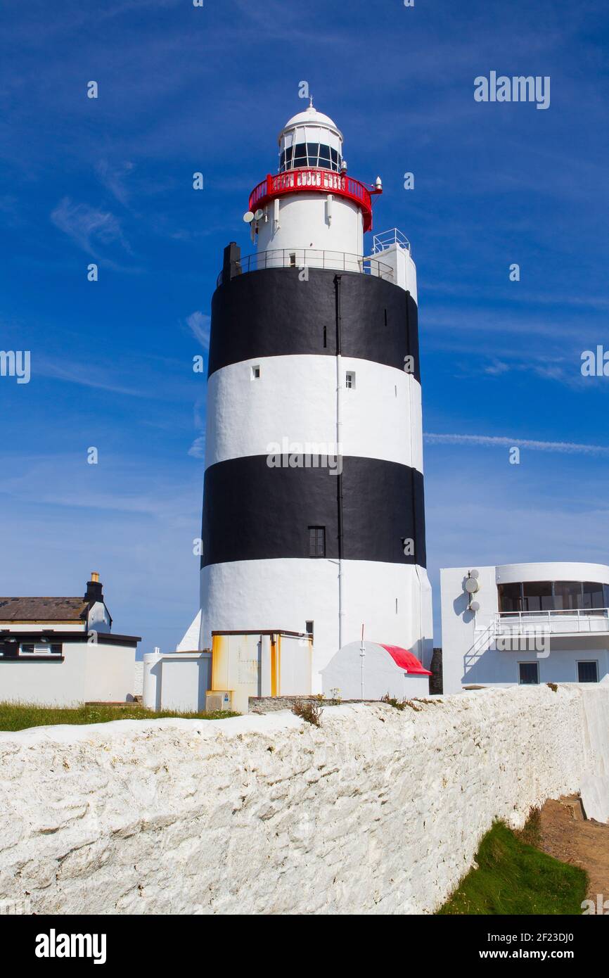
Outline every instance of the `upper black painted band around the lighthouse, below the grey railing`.
{"label": "upper black painted band around the lighthouse, below the grey railing", "polygon": [[[290,354],[335,356],[331,269],[270,268],[237,275],[214,292],[209,375],[241,360]],[[358,272],[340,272],[342,355],[404,370],[420,380],[416,303],[410,292]]]}

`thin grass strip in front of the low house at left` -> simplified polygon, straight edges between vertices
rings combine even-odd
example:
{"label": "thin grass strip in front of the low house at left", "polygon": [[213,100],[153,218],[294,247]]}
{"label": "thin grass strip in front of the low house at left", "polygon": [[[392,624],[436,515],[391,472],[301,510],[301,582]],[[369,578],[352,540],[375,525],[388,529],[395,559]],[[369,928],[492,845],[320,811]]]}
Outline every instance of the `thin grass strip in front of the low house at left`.
{"label": "thin grass strip in front of the low house at left", "polygon": [[54,724],[108,724],[111,720],[156,720],[178,717],[184,720],[226,720],[239,713],[217,710],[214,713],[175,713],[160,710],[154,713],[137,703],[129,706],[78,706],[65,709],[55,706],[36,706],[33,703],[0,702],[0,731],[22,731],[27,727],[47,727]]}

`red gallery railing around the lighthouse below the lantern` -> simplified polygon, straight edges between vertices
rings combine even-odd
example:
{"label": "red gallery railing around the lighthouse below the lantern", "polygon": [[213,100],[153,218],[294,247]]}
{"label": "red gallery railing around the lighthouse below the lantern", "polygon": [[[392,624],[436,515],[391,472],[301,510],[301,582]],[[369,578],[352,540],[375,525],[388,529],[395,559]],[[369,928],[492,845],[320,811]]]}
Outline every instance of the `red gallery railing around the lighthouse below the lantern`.
{"label": "red gallery railing around the lighthouse below the lantern", "polygon": [[264,207],[270,200],[283,197],[285,194],[300,194],[311,191],[318,194],[334,194],[353,200],[364,214],[364,230],[372,228],[372,195],[380,191],[369,190],[365,184],[343,173],[318,167],[305,167],[299,170],[285,170],[275,176],[268,174],[249,195],[249,209],[255,211]]}

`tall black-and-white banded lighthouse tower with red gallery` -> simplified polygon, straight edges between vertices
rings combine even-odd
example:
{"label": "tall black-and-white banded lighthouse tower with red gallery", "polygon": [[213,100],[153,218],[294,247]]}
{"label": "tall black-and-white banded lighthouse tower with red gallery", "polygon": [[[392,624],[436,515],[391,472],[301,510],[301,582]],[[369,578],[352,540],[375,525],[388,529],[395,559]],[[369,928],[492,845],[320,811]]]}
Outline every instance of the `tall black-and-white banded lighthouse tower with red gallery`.
{"label": "tall black-and-white banded lighthouse tower with red gallery", "polygon": [[294,115],[212,300],[198,647],[312,635],[314,690],[363,625],[432,651],[416,273],[399,232],[367,256],[380,191],[327,115]]}

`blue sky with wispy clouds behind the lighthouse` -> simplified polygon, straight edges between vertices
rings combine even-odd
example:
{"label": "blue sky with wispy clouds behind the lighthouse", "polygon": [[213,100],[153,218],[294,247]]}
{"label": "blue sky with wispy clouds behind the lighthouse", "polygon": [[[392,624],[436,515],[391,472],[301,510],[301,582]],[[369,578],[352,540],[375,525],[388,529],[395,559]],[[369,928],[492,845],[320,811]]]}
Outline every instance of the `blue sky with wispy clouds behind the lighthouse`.
{"label": "blue sky with wispy clouds behind the lighthouse", "polygon": [[[413,243],[436,612],[441,566],[607,562],[609,378],[580,358],[609,349],[608,25],[600,0],[4,5],[0,348],[30,350],[31,379],[0,378],[0,593],[99,570],[141,651],[190,623],[193,357],[301,80],[349,172],[383,178],[375,230]],[[476,103],[491,70],[549,75],[549,109]]]}

